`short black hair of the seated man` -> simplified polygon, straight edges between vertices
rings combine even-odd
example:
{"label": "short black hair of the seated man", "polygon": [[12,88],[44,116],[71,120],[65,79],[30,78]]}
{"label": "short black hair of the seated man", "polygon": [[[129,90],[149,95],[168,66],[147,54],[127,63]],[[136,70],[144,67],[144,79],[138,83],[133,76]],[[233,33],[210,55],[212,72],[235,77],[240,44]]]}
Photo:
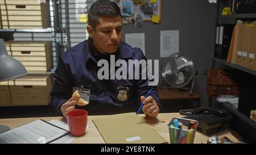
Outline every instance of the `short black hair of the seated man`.
{"label": "short black hair of the seated man", "polygon": [[[96,27],[99,24],[98,18],[101,16],[121,16],[121,11],[117,3],[110,0],[98,0],[93,3],[88,12],[88,24]],[[122,16],[121,16],[122,18]]]}

